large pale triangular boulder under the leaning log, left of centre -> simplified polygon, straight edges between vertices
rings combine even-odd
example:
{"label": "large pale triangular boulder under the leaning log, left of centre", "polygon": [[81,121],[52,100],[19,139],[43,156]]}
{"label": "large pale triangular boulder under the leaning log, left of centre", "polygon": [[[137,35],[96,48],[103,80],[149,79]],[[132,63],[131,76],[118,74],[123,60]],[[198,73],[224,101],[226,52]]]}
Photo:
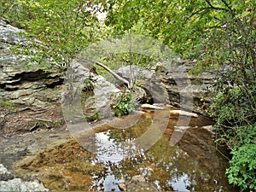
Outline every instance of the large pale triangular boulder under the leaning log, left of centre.
{"label": "large pale triangular boulder under the leaning log, left of centre", "polygon": [[62,93],[63,112],[72,122],[83,121],[83,116],[89,121],[110,117],[110,105],[121,92],[77,60],[72,62],[64,86],[67,91]]}

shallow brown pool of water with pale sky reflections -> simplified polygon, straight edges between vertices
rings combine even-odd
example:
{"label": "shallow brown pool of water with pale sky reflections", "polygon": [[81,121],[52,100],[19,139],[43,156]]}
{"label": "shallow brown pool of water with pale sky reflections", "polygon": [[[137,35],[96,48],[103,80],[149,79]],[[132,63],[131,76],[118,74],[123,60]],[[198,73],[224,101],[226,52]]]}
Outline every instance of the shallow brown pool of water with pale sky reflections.
{"label": "shallow brown pool of water with pale sky reflections", "polygon": [[[216,149],[214,134],[206,129],[213,124],[211,119],[199,116],[189,119],[189,125],[177,127],[178,118],[170,117],[164,134],[147,150],[137,148],[134,141],[153,120],[160,119],[154,119],[150,111],[138,119],[128,129],[97,127],[92,136],[94,153],[84,149],[81,140],[71,139],[21,160],[16,172],[23,177],[37,176],[47,188],[57,191],[120,191],[119,183],[130,191],[238,191],[228,183],[228,162]],[[172,145],[175,131],[182,137]],[[147,184],[132,182],[137,175]]]}

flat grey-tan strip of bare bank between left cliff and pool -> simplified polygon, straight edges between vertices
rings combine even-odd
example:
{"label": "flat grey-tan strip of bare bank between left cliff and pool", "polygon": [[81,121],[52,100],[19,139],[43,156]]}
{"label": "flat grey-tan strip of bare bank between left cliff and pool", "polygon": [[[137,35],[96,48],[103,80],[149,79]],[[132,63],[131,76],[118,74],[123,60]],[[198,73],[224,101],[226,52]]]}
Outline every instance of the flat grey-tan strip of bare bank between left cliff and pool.
{"label": "flat grey-tan strip of bare bank between left cliff and pool", "polygon": [[16,161],[38,153],[38,151],[43,150],[46,146],[67,142],[70,138],[71,135],[66,127],[0,137],[1,163],[9,171],[12,171]]}

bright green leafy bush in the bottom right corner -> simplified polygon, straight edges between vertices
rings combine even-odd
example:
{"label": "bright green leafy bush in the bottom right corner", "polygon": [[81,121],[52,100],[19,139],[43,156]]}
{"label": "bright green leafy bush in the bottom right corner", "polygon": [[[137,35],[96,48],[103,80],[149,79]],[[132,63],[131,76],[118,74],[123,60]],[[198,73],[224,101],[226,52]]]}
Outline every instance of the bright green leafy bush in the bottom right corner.
{"label": "bright green leafy bush in the bottom right corner", "polygon": [[[254,127],[254,129],[256,126]],[[227,170],[230,183],[241,187],[241,191],[256,190],[256,141],[247,143],[231,152],[230,168]]]}

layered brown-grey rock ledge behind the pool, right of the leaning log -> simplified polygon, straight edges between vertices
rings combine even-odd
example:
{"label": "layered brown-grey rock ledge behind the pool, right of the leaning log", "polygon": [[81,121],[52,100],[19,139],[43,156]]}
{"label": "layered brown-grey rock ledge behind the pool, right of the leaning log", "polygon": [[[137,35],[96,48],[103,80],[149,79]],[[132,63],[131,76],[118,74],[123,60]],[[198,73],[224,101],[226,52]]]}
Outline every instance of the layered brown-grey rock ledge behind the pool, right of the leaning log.
{"label": "layered brown-grey rock ledge behind the pool, right of the leaning log", "polygon": [[[151,71],[133,67],[137,85],[142,87],[148,95],[143,101],[168,103],[179,108],[189,108],[190,101],[193,106],[189,109],[206,113],[207,105],[214,98],[216,73],[189,75],[189,70],[194,65],[194,62],[177,61],[176,66],[166,68],[159,63]],[[116,73],[130,80],[129,66],[119,68]]]}

